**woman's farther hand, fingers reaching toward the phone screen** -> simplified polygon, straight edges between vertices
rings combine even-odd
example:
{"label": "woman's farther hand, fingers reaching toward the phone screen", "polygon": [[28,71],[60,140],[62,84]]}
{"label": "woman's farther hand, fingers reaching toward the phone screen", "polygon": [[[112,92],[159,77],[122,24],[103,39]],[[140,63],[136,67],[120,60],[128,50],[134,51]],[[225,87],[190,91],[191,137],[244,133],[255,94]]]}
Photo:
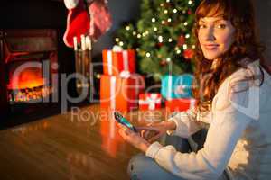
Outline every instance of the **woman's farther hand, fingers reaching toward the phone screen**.
{"label": "woman's farther hand, fingers reaching toward the phone screen", "polygon": [[140,135],[149,143],[162,137],[167,130],[175,130],[176,124],[174,121],[162,121],[158,123],[150,123],[144,127],[136,127],[140,131]]}

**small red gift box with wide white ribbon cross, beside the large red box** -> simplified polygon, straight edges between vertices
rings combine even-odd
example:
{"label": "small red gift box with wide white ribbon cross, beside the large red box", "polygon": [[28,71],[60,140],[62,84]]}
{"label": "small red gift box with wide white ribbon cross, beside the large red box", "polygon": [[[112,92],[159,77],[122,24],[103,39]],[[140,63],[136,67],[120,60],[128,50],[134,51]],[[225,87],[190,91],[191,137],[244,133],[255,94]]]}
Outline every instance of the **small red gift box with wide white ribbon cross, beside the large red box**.
{"label": "small red gift box with wide white ribbon cross, beside the large red box", "polygon": [[139,94],[139,110],[160,109],[161,101],[161,94]]}

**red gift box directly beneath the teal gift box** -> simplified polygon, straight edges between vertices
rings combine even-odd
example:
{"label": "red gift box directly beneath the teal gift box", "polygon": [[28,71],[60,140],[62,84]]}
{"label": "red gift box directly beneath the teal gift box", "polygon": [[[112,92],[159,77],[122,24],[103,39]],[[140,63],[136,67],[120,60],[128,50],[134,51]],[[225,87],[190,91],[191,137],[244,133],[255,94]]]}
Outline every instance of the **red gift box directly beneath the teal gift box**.
{"label": "red gift box directly beneath the teal gift box", "polygon": [[167,112],[183,112],[195,105],[195,99],[171,99],[165,101],[165,109]]}

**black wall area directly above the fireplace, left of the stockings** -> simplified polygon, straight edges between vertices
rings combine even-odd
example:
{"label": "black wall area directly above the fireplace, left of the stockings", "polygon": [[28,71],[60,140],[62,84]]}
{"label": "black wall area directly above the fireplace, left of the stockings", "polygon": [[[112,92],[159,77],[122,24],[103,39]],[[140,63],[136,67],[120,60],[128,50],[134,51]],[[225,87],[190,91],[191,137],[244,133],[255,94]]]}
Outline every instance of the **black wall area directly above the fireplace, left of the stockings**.
{"label": "black wall area directly above the fireplace, left of the stockings", "polygon": [[50,0],[5,0],[0,6],[0,26],[5,28],[64,27],[66,9]]}

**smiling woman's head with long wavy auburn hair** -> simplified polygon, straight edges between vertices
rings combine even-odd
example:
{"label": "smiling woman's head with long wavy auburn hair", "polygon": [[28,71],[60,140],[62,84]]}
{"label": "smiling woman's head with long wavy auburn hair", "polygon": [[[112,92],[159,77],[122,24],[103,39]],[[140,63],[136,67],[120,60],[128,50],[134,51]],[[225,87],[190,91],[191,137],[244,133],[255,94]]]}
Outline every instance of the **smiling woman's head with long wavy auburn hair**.
{"label": "smiling woman's head with long wavy auburn hair", "polygon": [[[201,109],[210,107],[220,85],[239,68],[258,60],[268,71],[263,58],[265,47],[258,43],[255,27],[250,1],[206,0],[197,9],[195,82],[201,86],[193,93]],[[263,80],[263,73],[259,78]]]}

